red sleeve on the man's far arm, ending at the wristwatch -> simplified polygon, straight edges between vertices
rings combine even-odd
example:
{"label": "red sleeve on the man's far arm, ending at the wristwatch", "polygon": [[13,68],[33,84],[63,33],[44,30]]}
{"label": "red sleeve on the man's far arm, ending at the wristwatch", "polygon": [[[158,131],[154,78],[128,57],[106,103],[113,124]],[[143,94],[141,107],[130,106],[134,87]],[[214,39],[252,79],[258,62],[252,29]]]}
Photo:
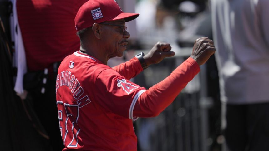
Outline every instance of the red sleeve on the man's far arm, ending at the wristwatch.
{"label": "red sleeve on the man's far arm, ending at the wristwatch", "polygon": [[127,80],[130,80],[143,71],[140,62],[136,57],[121,63],[118,66],[114,66],[112,69],[117,71],[121,76],[124,76]]}

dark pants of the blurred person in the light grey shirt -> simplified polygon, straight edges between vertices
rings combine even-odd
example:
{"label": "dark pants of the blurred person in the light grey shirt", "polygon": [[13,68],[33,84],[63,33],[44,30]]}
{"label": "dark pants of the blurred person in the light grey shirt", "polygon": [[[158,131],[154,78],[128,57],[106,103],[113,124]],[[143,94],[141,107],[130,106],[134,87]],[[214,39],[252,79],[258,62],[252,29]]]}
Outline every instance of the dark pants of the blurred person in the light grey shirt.
{"label": "dark pants of the blurred person in the light grey shirt", "polygon": [[269,151],[269,103],[222,105],[227,150]]}

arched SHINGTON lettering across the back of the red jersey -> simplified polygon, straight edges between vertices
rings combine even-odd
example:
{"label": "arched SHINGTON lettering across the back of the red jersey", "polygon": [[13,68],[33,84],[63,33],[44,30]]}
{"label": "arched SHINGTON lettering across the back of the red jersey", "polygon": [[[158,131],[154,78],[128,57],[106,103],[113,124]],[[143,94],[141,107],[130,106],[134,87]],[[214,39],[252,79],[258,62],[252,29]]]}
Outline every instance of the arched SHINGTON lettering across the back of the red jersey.
{"label": "arched SHINGTON lettering across the back of the red jersey", "polygon": [[56,92],[60,86],[65,85],[70,89],[74,99],[77,100],[79,108],[91,102],[88,95],[84,94],[84,89],[80,86],[78,79],[74,75],[71,76],[72,73],[70,71],[62,71],[60,73],[56,79]]}

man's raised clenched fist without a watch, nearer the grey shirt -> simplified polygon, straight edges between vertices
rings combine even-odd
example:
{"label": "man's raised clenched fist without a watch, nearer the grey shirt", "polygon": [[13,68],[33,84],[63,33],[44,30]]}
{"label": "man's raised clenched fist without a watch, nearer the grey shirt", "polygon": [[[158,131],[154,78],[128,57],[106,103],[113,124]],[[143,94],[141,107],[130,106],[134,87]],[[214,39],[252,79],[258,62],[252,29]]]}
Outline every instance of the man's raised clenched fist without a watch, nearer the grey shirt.
{"label": "man's raised clenched fist without a watch, nearer the grey shirt", "polygon": [[206,63],[209,57],[215,52],[216,48],[213,41],[208,37],[202,37],[196,39],[190,57],[192,57],[200,66]]}

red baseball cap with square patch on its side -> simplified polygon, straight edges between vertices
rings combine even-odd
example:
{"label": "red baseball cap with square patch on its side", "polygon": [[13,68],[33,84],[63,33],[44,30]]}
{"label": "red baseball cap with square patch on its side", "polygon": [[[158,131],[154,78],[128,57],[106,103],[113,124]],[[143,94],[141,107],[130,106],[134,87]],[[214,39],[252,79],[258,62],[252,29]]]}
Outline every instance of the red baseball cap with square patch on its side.
{"label": "red baseball cap with square patch on its side", "polygon": [[84,3],[75,17],[77,31],[93,26],[94,23],[124,19],[129,22],[139,14],[126,13],[115,0],[89,0]]}

